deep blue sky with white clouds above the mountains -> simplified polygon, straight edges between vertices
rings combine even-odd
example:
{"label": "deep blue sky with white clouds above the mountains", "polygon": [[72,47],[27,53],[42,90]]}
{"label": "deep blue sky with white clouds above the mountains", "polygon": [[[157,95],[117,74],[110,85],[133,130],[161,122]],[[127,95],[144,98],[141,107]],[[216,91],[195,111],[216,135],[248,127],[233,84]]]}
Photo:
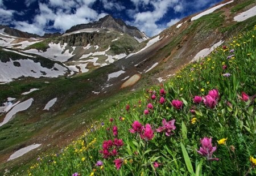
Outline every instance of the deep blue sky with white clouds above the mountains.
{"label": "deep blue sky with white clouds above the mountains", "polygon": [[20,31],[65,32],[112,15],[154,36],[180,19],[221,0],[0,0],[0,24]]}

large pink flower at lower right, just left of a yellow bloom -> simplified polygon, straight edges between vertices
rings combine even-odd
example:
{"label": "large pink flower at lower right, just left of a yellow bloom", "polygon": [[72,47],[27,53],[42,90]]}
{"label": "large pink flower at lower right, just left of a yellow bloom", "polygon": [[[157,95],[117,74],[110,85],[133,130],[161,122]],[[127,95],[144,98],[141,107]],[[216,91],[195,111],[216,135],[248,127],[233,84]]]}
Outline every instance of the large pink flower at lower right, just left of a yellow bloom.
{"label": "large pink flower at lower right, just left of a yellow bloom", "polygon": [[218,158],[213,158],[212,154],[214,151],[216,151],[217,147],[212,147],[212,138],[204,137],[203,139],[200,139],[201,147],[197,153],[201,154],[202,156],[207,157],[207,160],[218,161]]}

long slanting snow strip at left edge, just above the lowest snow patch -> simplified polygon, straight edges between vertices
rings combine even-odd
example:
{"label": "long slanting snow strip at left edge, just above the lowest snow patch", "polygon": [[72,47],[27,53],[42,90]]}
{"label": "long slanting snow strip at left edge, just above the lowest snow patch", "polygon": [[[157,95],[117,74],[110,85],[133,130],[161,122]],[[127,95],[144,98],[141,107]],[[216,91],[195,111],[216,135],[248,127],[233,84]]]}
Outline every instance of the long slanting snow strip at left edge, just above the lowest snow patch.
{"label": "long slanting snow strip at left edge, just above the lowest snow patch", "polygon": [[3,119],[3,122],[0,123],[0,127],[5,125],[7,122],[9,122],[11,120],[11,118],[13,118],[13,116],[18,113],[19,111],[24,111],[27,110],[28,108],[30,108],[32,102],[34,101],[33,98],[30,98],[26,101],[20,102],[19,104],[17,104],[16,106],[14,106],[13,109],[11,109],[9,111],[9,113],[6,114],[5,119]]}

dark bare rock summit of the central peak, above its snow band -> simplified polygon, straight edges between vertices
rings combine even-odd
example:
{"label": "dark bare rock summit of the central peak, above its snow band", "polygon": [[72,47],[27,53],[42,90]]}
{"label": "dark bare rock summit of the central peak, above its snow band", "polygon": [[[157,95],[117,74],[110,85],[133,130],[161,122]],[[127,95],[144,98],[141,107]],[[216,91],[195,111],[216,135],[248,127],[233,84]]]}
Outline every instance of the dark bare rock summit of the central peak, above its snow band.
{"label": "dark bare rock summit of the central peak, above its snow band", "polygon": [[130,25],[126,25],[125,22],[123,22],[123,20],[114,19],[110,15],[107,15],[104,18],[101,18],[97,22],[75,25],[70,29],[68,29],[65,33],[78,31],[80,29],[85,29],[85,28],[106,28],[106,29],[109,29],[110,31],[127,33],[132,37],[137,37],[137,38],[145,37],[144,34],[141,31],[139,31],[138,28]]}

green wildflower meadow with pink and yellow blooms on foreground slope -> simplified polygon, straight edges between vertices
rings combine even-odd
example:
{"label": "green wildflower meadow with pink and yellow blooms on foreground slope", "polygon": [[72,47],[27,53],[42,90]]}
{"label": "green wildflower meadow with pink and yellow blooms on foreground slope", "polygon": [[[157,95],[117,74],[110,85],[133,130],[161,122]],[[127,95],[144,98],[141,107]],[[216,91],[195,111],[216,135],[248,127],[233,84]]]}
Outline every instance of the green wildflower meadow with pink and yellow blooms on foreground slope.
{"label": "green wildflower meadow with pink and yellow blooms on foreground slope", "polygon": [[28,175],[256,175],[255,36],[256,26],[102,111]]}

